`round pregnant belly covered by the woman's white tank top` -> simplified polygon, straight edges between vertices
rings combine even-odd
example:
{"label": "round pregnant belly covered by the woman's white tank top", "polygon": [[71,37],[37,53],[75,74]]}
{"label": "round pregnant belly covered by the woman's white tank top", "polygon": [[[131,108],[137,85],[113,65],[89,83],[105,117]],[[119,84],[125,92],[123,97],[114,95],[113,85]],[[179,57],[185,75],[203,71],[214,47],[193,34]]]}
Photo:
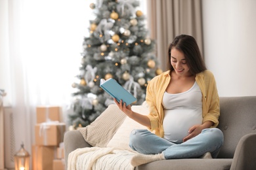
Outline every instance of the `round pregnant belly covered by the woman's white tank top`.
{"label": "round pregnant belly covered by the woman's white tank top", "polygon": [[173,143],[182,143],[190,127],[202,124],[202,109],[165,110],[163,119],[164,138]]}

